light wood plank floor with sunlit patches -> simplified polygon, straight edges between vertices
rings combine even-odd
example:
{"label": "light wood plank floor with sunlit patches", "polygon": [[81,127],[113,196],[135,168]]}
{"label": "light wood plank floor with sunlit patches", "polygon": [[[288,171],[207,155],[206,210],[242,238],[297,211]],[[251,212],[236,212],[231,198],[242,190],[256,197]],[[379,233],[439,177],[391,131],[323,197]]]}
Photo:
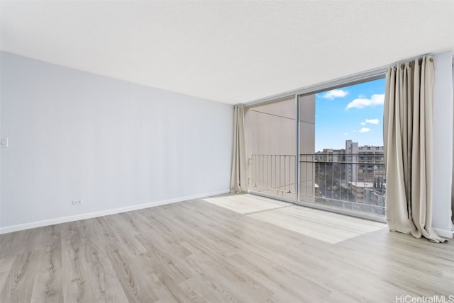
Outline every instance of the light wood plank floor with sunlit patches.
{"label": "light wood plank floor with sunlit patches", "polygon": [[[222,197],[233,204],[241,198]],[[0,302],[399,302],[396,296],[454,295],[454,241],[433,244],[375,222],[330,241],[310,232],[320,228],[309,224],[320,214],[301,215],[301,207],[277,202],[254,211],[260,205],[253,201],[246,206],[253,211],[241,213],[218,202],[1,235]],[[334,222],[358,227],[345,216],[328,217],[334,229]],[[289,220],[279,226],[281,219]]]}

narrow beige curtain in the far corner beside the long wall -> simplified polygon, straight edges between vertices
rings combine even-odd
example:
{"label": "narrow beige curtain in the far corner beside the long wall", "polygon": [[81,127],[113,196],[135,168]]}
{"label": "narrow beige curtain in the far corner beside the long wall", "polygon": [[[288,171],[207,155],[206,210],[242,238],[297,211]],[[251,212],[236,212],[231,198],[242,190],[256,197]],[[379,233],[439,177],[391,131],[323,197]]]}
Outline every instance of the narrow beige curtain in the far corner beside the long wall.
{"label": "narrow beige curtain in the far corner beside the long wall", "polygon": [[233,131],[233,161],[230,190],[231,193],[248,193],[243,104],[235,105]]}

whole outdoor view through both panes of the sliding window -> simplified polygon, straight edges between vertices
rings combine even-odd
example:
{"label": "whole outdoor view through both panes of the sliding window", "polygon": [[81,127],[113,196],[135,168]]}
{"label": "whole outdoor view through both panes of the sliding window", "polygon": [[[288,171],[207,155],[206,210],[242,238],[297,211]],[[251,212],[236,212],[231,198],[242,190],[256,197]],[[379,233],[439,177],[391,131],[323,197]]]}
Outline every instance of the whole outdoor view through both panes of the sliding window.
{"label": "whole outdoor view through both panes of the sliding window", "polygon": [[294,97],[249,108],[250,190],[384,216],[383,91],[378,79],[300,96],[299,138]]}

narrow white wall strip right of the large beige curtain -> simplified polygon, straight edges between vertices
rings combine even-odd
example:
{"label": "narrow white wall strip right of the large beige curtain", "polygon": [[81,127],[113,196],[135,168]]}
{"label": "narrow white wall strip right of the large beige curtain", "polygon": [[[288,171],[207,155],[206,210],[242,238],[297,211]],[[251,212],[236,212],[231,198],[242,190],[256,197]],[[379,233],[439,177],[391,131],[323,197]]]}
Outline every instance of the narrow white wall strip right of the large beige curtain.
{"label": "narrow white wall strip right of the large beige curtain", "polygon": [[451,182],[453,176],[453,52],[435,57],[433,87],[433,228],[453,236]]}

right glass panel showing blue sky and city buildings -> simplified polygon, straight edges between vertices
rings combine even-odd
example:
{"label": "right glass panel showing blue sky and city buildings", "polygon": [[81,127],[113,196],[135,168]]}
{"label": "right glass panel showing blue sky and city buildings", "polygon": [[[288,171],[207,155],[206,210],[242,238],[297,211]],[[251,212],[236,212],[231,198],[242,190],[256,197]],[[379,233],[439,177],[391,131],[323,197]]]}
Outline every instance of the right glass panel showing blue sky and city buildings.
{"label": "right glass panel showing blue sky and city buildings", "polygon": [[384,79],[299,98],[299,200],[384,216]]}

